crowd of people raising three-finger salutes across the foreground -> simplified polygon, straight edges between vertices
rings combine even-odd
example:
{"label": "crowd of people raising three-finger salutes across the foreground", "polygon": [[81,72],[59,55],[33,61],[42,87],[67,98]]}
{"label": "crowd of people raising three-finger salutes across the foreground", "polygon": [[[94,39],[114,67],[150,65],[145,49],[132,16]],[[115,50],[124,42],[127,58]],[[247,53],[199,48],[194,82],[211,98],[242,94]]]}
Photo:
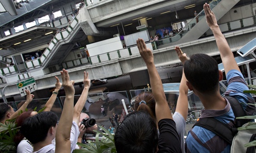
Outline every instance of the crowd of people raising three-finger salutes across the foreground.
{"label": "crowd of people raising three-finger salutes across the foreground", "polygon": [[[220,31],[219,25],[209,4],[204,4],[206,22],[212,30],[219,48],[220,57],[224,65],[228,80],[228,88],[225,95],[236,98],[244,106],[247,115],[254,114],[252,95],[243,93],[248,90],[247,84],[235,62],[234,55],[229,48],[227,40]],[[185,120],[188,114],[188,90],[197,95],[204,110],[200,118],[215,118],[230,127],[233,127],[235,116],[228,99],[219,93],[219,81],[223,79],[223,73],[218,70],[215,59],[206,54],[194,54],[187,57],[180,47],[175,47],[176,53],[183,63],[183,75],[180,81],[179,97],[172,114],[166,101],[163,85],[154,64],[154,55],[146,47],[143,39],[137,39],[139,53],[144,60],[150,77],[151,92],[146,91],[137,95],[134,109],[129,108],[129,114],[120,123],[120,116],[113,113],[109,120],[112,126],[109,131],[115,132],[115,146],[117,152],[229,152],[230,144],[220,136],[204,127],[194,126],[184,139]],[[86,114],[81,114],[85,106],[90,79],[88,72],[83,74],[83,91],[75,106],[74,81],[70,80],[67,70],[61,71],[61,79],[56,78],[56,88],[51,98],[41,113],[26,111],[27,105],[34,95],[26,90],[26,102],[14,112],[13,108],[1,104],[0,121],[8,122],[16,119],[21,126],[17,135],[18,152],[72,152],[79,148],[76,144],[82,141],[86,126],[81,124]],[[50,110],[56,99],[58,90],[63,86],[66,98],[60,121]],[[105,110],[101,109],[103,116]],[[24,112],[19,115],[19,113]],[[71,115],[72,114],[72,115]],[[114,121],[117,125],[114,125]],[[115,127],[116,126],[116,127]],[[90,130],[97,129],[97,125]]]}

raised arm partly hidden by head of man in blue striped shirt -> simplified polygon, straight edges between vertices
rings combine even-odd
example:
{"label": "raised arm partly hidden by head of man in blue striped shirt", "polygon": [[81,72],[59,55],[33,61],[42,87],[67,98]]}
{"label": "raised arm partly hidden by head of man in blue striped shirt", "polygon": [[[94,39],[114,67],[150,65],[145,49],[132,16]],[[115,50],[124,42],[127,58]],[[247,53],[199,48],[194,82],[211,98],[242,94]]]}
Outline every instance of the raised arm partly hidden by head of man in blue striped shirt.
{"label": "raised arm partly hidden by head of man in blue striped shirt", "polygon": [[[176,53],[178,54],[178,57],[179,57],[181,63],[184,65],[186,60],[188,60],[189,58],[186,57],[186,54],[182,52],[180,47],[175,47],[174,49],[176,50]],[[188,91],[189,91],[189,88],[186,85],[186,81],[187,80],[186,80],[186,77],[185,77],[185,74],[183,71],[182,78],[180,81],[179,98],[177,101],[176,111],[179,112],[183,116],[184,120],[186,120],[187,115],[188,115]]]}

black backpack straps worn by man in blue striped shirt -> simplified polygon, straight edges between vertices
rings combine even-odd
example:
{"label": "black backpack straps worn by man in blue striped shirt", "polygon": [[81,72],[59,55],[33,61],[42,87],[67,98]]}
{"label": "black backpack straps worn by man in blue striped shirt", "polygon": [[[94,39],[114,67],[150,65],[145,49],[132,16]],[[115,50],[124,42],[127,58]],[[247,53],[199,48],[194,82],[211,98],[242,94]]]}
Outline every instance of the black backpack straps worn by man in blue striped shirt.
{"label": "black backpack straps worn by man in blue striped shirt", "polygon": [[[234,112],[235,118],[241,116],[247,116],[242,105],[237,99],[232,96],[224,96],[228,99],[232,110]],[[230,127],[228,124],[222,123],[221,121],[214,118],[200,118],[194,126],[201,126],[214,132],[216,135],[220,136],[223,140],[232,144],[234,136],[238,133],[237,128],[243,126],[245,123],[251,121],[250,119],[235,119],[235,127]],[[193,126],[193,127],[194,127]],[[192,128],[193,128],[192,127]],[[250,141],[255,140],[255,135],[252,135]],[[249,148],[248,148],[249,149]]]}

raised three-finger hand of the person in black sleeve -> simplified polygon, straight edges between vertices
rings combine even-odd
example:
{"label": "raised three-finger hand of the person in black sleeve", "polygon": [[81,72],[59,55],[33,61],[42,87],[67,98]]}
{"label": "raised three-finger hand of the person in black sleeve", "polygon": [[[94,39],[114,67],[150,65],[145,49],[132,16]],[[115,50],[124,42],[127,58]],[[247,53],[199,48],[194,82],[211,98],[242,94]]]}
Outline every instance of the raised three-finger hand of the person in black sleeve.
{"label": "raised three-finger hand of the person in black sleeve", "polygon": [[137,47],[139,49],[140,55],[143,58],[146,64],[154,63],[153,53],[149,48],[146,47],[146,44],[142,38],[136,40]]}

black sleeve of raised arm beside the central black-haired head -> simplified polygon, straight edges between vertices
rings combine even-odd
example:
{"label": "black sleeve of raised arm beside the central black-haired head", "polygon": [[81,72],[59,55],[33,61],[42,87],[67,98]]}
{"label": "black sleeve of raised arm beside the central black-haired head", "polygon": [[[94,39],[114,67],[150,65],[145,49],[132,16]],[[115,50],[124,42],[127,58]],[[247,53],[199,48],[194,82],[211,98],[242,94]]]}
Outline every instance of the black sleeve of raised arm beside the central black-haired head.
{"label": "black sleeve of raised arm beside the central black-haired head", "polygon": [[174,120],[162,119],[158,122],[158,127],[160,134],[157,152],[182,152]]}

